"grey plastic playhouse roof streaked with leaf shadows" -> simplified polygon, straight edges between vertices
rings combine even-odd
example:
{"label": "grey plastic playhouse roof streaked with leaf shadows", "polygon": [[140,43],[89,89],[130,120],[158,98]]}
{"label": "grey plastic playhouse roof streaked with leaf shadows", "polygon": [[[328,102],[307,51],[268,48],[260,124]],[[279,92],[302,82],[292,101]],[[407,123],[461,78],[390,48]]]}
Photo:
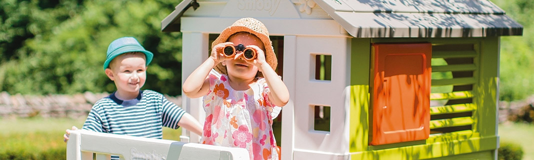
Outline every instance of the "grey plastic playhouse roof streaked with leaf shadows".
{"label": "grey plastic playhouse roof streaked with leaf shadows", "polygon": [[[354,37],[486,37],[522,35],[523,26],[488,0],[315,1]],[[179,31],[180,17],[196,0],[184,0],[162,22]]]}

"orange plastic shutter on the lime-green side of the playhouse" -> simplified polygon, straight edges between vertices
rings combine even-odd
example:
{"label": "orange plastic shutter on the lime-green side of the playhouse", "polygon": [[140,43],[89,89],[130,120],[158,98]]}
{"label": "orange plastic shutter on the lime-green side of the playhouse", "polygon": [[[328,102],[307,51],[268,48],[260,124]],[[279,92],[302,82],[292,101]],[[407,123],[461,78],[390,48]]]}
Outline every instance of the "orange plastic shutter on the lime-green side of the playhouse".
{"label": "orange plastic shutter on the lime-green side of the playhouse", "polygon": [[371,145],[428,138],[431,52],[430,43],[373,44]]}

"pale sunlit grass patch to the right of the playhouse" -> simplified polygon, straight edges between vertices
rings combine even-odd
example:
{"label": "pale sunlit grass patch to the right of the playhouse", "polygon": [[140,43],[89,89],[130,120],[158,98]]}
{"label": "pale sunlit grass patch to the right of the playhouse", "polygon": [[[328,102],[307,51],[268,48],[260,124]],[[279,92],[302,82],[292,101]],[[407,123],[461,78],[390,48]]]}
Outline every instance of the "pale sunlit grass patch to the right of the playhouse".
{"label": "pale sunlit grass patch to the right of the playhouse", "polygon": [[523,148],[523,159],[534,159],[534,125],[532,124],[500,124],[499,137],[501,142],[512,142]]}

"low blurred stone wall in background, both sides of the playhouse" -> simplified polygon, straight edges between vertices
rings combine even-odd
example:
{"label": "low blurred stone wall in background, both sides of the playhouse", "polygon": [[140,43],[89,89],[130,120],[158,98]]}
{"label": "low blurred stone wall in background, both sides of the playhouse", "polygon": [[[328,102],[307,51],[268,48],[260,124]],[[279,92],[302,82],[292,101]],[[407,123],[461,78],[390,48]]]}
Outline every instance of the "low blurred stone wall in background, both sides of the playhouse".
{"label": "low blurred stone wall in background, both sides of the playhouse", "polygon": [[[87,117],[93,103],[109,93],[78,93],[50,95],[10,95],[0,93],[0,118],[6,117]],[[169,101],[182,105],[181,97],[170,97]],[[522,101],[500,102],[499,122],[534,123],[534,96]]]}

